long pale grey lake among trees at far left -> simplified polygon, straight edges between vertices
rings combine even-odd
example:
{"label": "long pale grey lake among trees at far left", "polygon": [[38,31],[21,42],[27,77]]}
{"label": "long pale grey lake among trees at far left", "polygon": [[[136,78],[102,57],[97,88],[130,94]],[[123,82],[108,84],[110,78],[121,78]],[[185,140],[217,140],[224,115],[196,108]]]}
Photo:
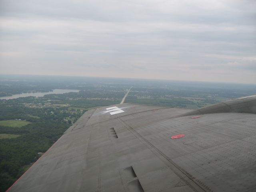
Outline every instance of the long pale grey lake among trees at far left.
{"label": "long pale grey lake among trees at far left", "polygon": [[16,99],[19,97],[28,97],[28,96],[34,96],[34,97],[42,97],[47,94],[63,94],[63,93],[69,93],[69,92],[76,92],[78,93],[80,90],[75,90],[75,89],[54,89],[53,91],[50,92],[36,92],[36,93],[22,93],[22,94],[15,94],[12,96],[6,96],[6,97],[0,97],[0,99]]}

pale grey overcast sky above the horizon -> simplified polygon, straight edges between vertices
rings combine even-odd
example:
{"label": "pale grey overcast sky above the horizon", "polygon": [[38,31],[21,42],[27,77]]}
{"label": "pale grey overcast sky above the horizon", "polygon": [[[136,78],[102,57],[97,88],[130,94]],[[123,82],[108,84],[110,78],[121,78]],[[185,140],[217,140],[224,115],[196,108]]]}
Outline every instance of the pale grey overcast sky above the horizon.
{"label": "pale grey overcast sky above the horizon", "polygon": [[256,84],[256,1],[0,0],[0,73]]}

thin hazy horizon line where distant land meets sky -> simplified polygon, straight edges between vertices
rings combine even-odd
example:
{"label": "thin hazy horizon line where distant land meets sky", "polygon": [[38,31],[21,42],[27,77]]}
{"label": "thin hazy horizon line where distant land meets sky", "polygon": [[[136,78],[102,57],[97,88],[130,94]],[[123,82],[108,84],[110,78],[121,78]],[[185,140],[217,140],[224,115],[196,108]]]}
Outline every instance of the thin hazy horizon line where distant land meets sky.
{"label": "thin hazy horizon line where distant land meets sky", "polygon": [[1,75],[17,75],[17,76],[60,76],[60,77],[88,77],[88,78],[109,78],[109,79],[133,79],[133,80],[156,80],[156,81],[179,81],[179,82],[201,82],[201,83],[222,83],[222,84],[245,84],[245,85],[256,85],[255,83],[240,83],[240,82],[219,82],[219,81],[199,81],[199,80],[174,80],[174,79],[150,79],[150,78],[128,78],[128,77],[102,77],[102,76],[74,76],[74,75],[53,75],[53,74],[2,74]]}

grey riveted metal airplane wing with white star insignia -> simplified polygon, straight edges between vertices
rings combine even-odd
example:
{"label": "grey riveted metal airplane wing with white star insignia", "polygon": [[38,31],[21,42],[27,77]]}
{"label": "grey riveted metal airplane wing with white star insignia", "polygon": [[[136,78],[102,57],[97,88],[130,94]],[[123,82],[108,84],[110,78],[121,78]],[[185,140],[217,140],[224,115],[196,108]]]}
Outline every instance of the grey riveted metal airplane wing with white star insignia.
{"label": "grey riveted metal airplane wing with white star insignia", "polygon": [[90,110],[8,191],[256,191],[256,96]]}

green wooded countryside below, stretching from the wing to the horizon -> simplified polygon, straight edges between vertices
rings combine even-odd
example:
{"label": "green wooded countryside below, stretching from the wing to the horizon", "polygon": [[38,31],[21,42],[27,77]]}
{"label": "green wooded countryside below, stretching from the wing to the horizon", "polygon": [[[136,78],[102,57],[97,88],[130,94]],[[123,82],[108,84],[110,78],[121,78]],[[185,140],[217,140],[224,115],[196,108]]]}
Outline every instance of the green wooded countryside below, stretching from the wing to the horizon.
{"label": "green wooded countryside below, stretching from the wing to the horizon", "polygon": [[[1,190],[28,170],[84,112],[119,104],[130,87],[126,103],[186,109],[256,94],[254,84],[1,75]],[[31,96],[12,98],[22,93]],[[33,96],[36,93],[45,95]]]}

